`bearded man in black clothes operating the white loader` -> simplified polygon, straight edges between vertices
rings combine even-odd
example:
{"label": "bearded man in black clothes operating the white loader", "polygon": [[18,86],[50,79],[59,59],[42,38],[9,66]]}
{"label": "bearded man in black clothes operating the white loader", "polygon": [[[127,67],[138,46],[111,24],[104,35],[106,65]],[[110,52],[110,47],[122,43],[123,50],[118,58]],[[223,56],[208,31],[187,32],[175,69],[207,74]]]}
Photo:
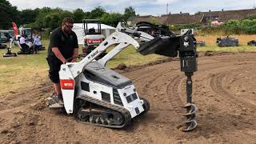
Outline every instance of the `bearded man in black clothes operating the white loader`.
{"label": "bearded man in black clothes operating the white loader", "polygon": [[[63,99],[58,71],[61,65],[66,63],[66,59],[78,55],[78,38],[72,31],[73,24],[73,18],[64,18],[62,26],[52,31],[46,58],[50,67],[49,77],[54,83],[54,100],[60,105],[63,105]],[[76,58],[73,58],[71,62],[76,62]]]}

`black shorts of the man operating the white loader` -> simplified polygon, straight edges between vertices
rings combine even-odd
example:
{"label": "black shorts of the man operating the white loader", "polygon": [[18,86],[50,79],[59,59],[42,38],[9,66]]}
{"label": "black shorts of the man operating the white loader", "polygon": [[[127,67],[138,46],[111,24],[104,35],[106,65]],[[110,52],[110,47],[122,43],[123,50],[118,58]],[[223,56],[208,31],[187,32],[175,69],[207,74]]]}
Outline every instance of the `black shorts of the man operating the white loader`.
{"label": "black shorts of the man operating the white loader", "polygon": [[58,83],[59,75],[58,71],[61,69],[62,62],[58,58],[48,57],[46,58],[49,65],[49,78],[51,82]]}

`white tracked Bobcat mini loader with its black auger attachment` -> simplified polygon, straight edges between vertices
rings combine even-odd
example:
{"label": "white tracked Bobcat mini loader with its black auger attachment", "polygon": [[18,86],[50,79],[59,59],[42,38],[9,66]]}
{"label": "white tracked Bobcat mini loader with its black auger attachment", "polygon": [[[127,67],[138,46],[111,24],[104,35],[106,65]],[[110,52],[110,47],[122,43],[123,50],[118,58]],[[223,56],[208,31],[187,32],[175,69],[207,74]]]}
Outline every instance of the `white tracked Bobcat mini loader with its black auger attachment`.
{"label": "white tracked Bobcat mini loader with its black auger attachment", "polygon": [[[121,29],[120,29],[121,30]],[[139,44],[134,38],[146,38],[147,42]],[[150,103],[138,94],[133,82],[129,78],[106,68],[106,62],[127,46],[133,45],[142,54],[161,54],[169,57],[179,57],[181,70],[188,77],[186,128],[193,130],[197,126],[195,121],[196,106],[192,103],[191,76],[197,70],[195,39],[186,34],[154,38],[149,34],[137,31],[136,26],[122,28],[106,38],[96,49],[86,55],[81,62],[67,62],[62,64],[59,71],[64,109],[67,114],[74,114],[78,122],[122,128],[131,119],[150,110]],[[110,46],[115,46],[103,58],[98,59]],[[54,108],[54,98],[47,98],[50,108]],[[62,107],[58,107],[62,108]]]}

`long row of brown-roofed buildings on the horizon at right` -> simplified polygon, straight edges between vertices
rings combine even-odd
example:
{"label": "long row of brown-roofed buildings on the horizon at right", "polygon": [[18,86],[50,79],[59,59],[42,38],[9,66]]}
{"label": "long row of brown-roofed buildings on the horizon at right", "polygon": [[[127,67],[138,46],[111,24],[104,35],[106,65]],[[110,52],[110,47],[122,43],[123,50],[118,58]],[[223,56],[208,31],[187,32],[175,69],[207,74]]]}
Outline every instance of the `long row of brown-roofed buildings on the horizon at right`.
{"label": "long row of brown-roofed buildings on the horizon at right", "polygon": [[137,16],[128,18],[127,22],[131,25],[137,22],[152,22],[155,24],[177,25],[177,24],[191,24],[199,23],[202,25],[210,25],[211,22],[226,22],[229,20],[242,20],[251,16],[256,16],[256,9],[248,10],[222,10],[198,12],[196,14],[182,13],[179,14],[164,14],[161,17],[154,17],[152,15]]}

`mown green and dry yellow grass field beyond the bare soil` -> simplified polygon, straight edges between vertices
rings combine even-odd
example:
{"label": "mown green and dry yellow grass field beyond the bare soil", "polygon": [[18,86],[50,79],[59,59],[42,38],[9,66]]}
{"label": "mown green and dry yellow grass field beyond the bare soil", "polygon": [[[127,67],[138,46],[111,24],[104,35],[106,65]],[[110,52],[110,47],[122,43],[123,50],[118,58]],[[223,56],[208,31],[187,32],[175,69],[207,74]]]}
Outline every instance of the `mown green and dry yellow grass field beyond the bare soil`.
{"label": "mown green and dry yellow grass field beyond the bare soil", "polygon": [[[230,35],[230,37],[239,39],[238,47],[218,47],[216,46],[216,38],[218,36],[197,36],[197,40],[206,42],[206,47],[198,47],[198,51],[256,51],[256,46],[246,46],[246,42],[256,39],[256,35]],[[44,40],[43,46],[49,45],[49,41]],[[14,46],[14,52],[19,51],[18,47]],[[80,52],[82,49],[80,48]],[[46,62],[47,50],[39,51],[39,54],[18,55],[16,58],[3,58],[2,55],[6,50],[0,50],[0,96],[6,92],[15,91],[20,88],[34,86],[47,78],[48,65]],[[108,67],[118,66],[120,63],[125,63],[127,66],[134,64],[143,64],[154,61],[162,56],[151,54],[142,56],[130,46],[123,50],[113,60],[107,63]]]}

